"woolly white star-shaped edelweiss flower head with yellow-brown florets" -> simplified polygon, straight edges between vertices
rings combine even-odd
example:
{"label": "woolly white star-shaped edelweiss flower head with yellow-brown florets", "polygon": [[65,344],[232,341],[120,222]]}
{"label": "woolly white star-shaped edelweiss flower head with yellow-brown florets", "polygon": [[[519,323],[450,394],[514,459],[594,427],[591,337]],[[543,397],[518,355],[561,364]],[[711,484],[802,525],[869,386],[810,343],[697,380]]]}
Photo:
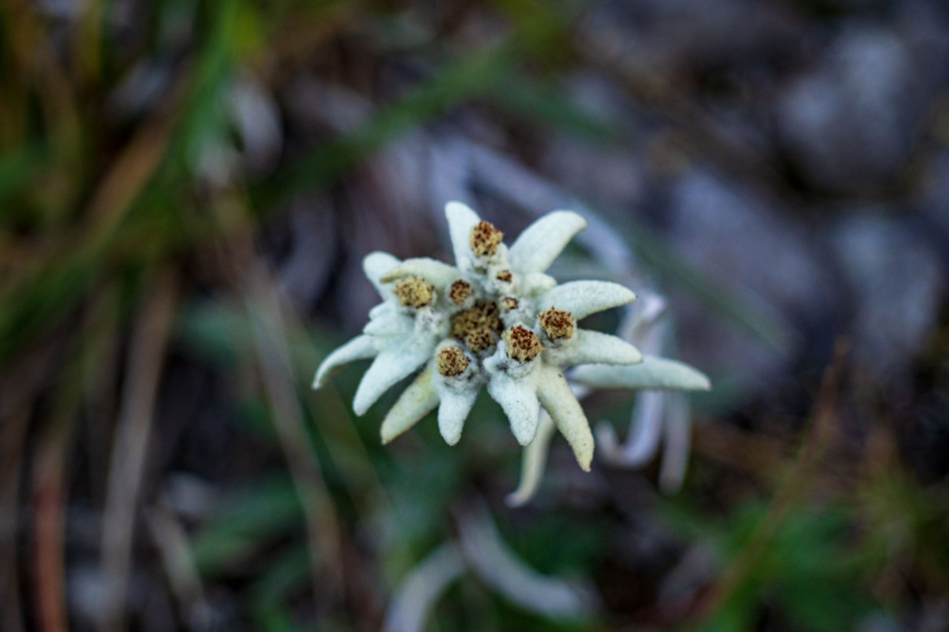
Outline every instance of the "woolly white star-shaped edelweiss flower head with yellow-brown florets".
{"label": "woolly white star-shaped edelweiss flower head with yellow-brown florets", "polygon": [[584,316],[636,296],[617,283],[558,285],[545,274],[586,226],[572,211],[538,219],[510,248],[500,230],[459,202],[449,202],[445,216],[456,264],[368,255],[363,270],[383,302],[369,312],[362,335],[326,357],[313,387],[347,362],[375,358],[353,400],[362,415],[388,388],[421,369],[382,421],[382,442],[437,407],[438,429],[454,445],[478,390],[487,386],[521,445],[533,441],[543,407],[588,470],[593,435],[563,370],[642,362],[642,354],[621,338],[577,326]]}

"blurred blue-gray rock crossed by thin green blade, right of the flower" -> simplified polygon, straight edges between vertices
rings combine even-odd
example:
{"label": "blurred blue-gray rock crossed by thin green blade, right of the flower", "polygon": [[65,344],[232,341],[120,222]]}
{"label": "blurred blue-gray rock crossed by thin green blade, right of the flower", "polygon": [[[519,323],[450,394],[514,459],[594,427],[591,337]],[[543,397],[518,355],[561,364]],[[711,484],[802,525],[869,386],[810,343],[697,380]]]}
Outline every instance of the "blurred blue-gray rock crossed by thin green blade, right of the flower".
{"label": "blurred blue-gray rock crossed by thin green blade, right of the flower", "polygon": [[808,231],[754,192],[698,170],[679,180],[668,219],[668,239],[683,259],[739,298],[740,309],[789,334],[786,347],[774,349],[712,316],[707,306],[682,300],[679,292],[672,297],[679,297],[683,357],[700,367],[733,371],[752,388],[768,384],[801,349],[802,332],[791,323],[819,317],[827,304],[828,281],[815,263]]}

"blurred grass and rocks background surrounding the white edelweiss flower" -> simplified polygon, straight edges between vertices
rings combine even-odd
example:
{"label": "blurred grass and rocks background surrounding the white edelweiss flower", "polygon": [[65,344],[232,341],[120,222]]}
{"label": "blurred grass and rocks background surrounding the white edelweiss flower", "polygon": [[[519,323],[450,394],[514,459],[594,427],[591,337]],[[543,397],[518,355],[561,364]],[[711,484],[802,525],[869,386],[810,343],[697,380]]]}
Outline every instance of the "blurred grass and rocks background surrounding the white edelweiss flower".
{"label": "blurred grass and rocks background surrounding the white edelweiss flower", "polygon": [[[947,79],[942,0],[3,0],[0,630],[949,630]],[[665,297],[680,489],[309,389],[450,199]]]}

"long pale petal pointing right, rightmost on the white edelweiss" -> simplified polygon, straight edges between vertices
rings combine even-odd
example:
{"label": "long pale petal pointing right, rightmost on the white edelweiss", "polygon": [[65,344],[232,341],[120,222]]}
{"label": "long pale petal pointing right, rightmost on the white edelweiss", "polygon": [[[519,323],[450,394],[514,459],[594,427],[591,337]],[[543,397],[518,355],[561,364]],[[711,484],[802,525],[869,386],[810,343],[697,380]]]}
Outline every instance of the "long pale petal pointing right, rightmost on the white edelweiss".
{"label": "long pale petal pointing right, rightmost on the white edelweiss", "polygon": [[637,388],[653,390],[708,390],[709,378],[684,362],[643,355],[640,364],[614,367],[589,364],[576,367],[570,379],[596,388]]}

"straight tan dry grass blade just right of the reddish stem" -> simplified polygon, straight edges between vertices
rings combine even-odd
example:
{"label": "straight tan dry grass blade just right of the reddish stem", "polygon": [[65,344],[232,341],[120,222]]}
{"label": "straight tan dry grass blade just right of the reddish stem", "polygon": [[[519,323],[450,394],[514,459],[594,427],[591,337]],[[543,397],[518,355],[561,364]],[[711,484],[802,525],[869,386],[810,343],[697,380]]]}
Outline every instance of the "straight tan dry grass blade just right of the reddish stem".
{"label": "straight tan dry grass blade just right of the reddish stem", "polygon": [[143,299],[129,344],[102,518],[102,575],[106,594],[111,597],[102,608],[102,632],[118,632],[124,627],[132,533],[176,295],[175,273],[166,270]]}

